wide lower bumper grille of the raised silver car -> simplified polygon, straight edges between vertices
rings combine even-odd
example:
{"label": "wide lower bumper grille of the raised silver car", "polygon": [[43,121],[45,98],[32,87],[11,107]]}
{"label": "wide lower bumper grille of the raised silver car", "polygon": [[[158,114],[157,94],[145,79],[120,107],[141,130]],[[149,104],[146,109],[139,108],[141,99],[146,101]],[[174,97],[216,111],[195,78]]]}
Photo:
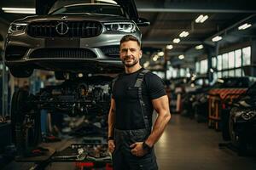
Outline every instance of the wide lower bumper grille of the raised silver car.
{"label": "wide lower bumper grille of the raised silver car", "polygon": [[42,48],[32,52],[30,59],[93,59],[96,54],[85,48]]}

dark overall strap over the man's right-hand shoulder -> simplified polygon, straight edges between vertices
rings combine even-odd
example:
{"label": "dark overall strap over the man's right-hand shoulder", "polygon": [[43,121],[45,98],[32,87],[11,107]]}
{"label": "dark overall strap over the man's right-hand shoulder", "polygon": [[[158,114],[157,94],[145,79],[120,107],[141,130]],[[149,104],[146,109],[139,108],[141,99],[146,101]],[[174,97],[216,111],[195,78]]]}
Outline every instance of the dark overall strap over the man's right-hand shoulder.
{"label": "dark overall strap over the man's right-hand shoulder", "polygon": [[143,113],[143,120],[144,120],[144,124],[146,129],[148,129],[148,131],[150,132],[150,125],[149,125],[149,121],[148,121],[148,116],[145,115],[145,113],[147,112],[146,110],[146,105],[143,102],[143,78],[145,76],[145,74],[147,74],[149,71],[148,70],[143,70],[139,73],[139,75],[137,76],[137,81],[135,82],[134,87],[137,88],[137,93],[138,93],[138,98],[140,101],[140,105],[141,105],[141,109],[142,109],[142,113]]}

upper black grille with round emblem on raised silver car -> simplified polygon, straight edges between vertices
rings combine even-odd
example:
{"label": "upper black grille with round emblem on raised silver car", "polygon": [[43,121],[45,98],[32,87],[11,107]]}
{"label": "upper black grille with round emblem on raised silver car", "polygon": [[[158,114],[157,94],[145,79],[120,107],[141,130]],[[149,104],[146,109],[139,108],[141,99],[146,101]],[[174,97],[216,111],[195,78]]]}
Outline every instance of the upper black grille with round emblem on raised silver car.
{"label": "upper black grille with round emblem on raised silver car", "polygon": [[102,33],[102,24],[90,20],[32,22],[26,31],[31,37],[96,37]]}

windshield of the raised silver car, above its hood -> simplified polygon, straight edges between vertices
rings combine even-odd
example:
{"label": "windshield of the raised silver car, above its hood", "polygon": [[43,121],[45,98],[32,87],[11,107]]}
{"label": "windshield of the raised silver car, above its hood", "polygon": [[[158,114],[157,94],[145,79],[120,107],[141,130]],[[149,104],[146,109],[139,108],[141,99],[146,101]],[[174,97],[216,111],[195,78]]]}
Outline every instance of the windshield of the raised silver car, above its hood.
{"label": "windshield of the raised silver car, above its hood", "polygon": [[106,4],[83,4],[71,5],[58,8],[51,14],[110,14],[125,16],[124,11],[119,6]]}

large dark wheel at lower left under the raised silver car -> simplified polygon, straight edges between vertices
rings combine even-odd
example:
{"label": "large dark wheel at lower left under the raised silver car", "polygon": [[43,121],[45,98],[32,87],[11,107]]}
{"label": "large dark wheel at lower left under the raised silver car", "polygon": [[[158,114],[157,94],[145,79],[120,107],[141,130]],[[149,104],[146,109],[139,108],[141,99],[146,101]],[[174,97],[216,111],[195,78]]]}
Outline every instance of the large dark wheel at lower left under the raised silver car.
{"label": "large dark wheel at lower left under the raised silver car", "polygon": [[11,101],[12,137],[18,155],[36,146],[41,136],[40,115],[28,108],[29,93],[19,89],[13,94]]}

